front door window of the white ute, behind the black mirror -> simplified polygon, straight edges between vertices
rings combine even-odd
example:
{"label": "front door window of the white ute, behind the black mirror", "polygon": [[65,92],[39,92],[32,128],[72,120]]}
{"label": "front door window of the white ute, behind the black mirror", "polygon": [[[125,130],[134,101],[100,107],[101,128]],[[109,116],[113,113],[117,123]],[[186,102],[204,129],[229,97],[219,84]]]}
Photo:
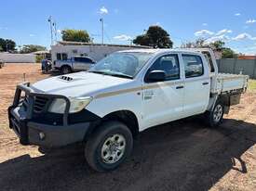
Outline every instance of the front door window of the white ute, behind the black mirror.
{"label": "front door window of the white ute, behind the black mirror", "polygon": [[166,71],[166,81],[180,79],[180,64],[178,55],[165,55],[158,57],[149,71]]}

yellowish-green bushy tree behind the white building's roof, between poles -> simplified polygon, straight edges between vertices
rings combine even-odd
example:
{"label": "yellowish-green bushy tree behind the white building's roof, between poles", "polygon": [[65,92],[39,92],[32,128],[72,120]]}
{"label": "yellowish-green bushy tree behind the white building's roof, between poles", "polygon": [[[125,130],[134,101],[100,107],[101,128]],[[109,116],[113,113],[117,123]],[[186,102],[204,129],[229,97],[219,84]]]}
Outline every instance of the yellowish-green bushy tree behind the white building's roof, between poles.
{"label": "yellowish-green bushy tree behind the white building's roof, between poles", "polygon": [[63,41],[89,43],[91,39],[87,31],[67,29],[61,32]]}

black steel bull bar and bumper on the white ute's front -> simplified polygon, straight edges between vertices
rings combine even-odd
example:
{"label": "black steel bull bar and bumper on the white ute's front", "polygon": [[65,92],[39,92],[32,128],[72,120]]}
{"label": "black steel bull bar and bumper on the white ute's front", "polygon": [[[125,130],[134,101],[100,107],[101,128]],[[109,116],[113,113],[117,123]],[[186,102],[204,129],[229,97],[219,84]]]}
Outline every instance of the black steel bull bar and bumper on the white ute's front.
{"label": "black steel bull bar and bumper on the white ute's front", "polygon": [[96,118],[91,118],[90,121],[79,121],[70,124],[68,114],[70,107],[69,99],[64,96],[43,94],[40,94],[40,96],[61,97],[66,100],[67,104],[62,115],[62,121],[52,123],[34,119],[33,98],[29,103],[28,109],[23,108],[20,105],[21,91],[24,91],[30,97],[39,95],[33,92],[29,87],[29,83],[20,84],[17,86],[13,105],[8,108],[9,127],[20,138],[21,145],[59,147],[81,142],[84,140],[90,127],[92,127],[92,124],[94,124],[94,120],[96,120]]}

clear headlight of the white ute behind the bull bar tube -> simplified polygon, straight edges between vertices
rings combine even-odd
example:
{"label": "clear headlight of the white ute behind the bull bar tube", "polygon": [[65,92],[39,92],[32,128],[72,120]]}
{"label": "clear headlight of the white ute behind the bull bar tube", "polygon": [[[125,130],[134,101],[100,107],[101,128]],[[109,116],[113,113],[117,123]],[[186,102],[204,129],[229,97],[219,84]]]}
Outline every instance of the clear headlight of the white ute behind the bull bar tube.
{"label": "clear headlight of the white ute behind the bull bar tube", "polygon": [[[69,97],[70,100],[70,108],[69,113],[76,113],[86,108],[89,102],[92,100],[92,97]],[[64,113],[66,108],[66,101],[61,98],[56,98],[51,103],[50,107],[48,108],[49,112],[53,113]]]}

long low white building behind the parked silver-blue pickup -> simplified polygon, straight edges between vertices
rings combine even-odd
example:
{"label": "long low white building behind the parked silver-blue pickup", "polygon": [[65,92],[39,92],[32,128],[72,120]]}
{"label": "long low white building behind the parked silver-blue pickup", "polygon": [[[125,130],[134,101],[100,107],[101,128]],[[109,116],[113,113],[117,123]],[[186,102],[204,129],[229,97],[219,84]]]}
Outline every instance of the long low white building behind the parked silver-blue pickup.
{"label": "long low white building behind the parked silver-blue pickup", "polygon": [[73,56],[92,57],[95,61],[119,50],[134,48],[151,48],[141,45],[101,45],[79,42],[61,41],[57,45],[51,46],[51,58],[55,60],[65,60]]}

